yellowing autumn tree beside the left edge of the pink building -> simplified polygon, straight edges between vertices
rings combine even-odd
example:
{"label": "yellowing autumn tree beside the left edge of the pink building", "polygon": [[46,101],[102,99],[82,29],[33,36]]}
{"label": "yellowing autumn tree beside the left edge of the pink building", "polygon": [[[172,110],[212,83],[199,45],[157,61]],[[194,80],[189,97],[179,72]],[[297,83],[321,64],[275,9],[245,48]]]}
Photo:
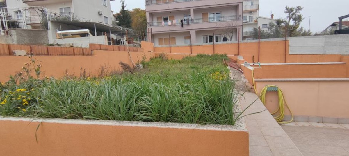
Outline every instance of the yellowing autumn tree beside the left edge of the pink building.
{"label": "yellowing autumn tree beside the left edge of the pink building", "polygon": [[146,10],[135,8],[131,11],[131,26],[138,34],[143,34],[147,31],[147,16]]}

